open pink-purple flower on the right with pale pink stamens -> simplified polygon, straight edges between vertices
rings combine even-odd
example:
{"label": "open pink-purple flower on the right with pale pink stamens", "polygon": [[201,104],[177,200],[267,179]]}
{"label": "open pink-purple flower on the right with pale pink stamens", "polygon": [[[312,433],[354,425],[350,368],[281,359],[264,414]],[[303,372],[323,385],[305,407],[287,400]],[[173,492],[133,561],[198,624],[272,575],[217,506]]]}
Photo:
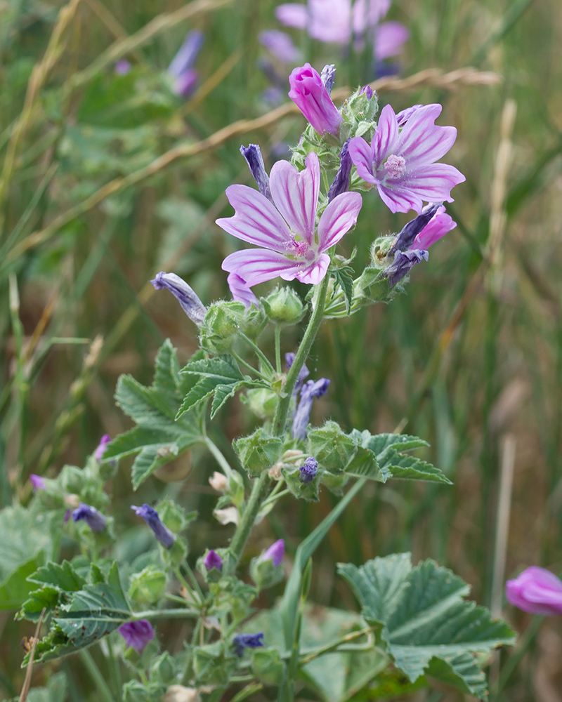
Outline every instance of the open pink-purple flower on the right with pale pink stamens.
{"label": "open pink-purple flower on the right with pale pink stamens", "polygon": [[423,201],[452,202],[451,190],[466,178],[455,166],[436,164],[455,143],[455,127],[435,124],[441,105],[415,110],[402,129],[391,105],[386,105],[371,145],[362,137],[349,143],[351,160],[367,183],[377,186],[391,212],[421,213]]}

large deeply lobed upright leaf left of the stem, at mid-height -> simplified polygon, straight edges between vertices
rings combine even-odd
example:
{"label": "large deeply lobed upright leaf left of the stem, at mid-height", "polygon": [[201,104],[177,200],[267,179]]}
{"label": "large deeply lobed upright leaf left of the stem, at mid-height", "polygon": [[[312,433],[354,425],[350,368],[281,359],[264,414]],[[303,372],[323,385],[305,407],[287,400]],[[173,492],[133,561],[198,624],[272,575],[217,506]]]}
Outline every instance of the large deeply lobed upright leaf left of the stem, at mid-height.
{"label": "large deeply lobed upright leaf left of the stem, at mid-height", "polygon": [[160,347],[155,361],[155,377],[150,388],[131,376],[121,376],[115,399],[137,426],[113,439],[104,461],[120,460],[138,454],[133,463],[133,489],[137,489],[162,465],[174,461],[200,441],[200,428],[194,413],[184,413],[176,421],[183,393],[188,391],[180,375],[176,350],[169,339]]}

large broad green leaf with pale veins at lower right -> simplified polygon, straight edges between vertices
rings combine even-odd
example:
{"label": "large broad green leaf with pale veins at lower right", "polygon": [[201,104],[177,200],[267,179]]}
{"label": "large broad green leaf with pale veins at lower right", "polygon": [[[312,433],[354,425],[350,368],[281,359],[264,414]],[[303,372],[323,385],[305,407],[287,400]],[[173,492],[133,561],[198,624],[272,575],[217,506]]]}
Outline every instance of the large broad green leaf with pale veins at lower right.
{"label": "large broad green leaf with pale veins at lower right", "polygon": [[366,621],[381,625],[381,645],[414,682],[424,673],[485,697],[476,653],[514,642],[515,634],[485,607],[464,600],[469,585],[432,560],[416,568],[410,554],[339,564]]}

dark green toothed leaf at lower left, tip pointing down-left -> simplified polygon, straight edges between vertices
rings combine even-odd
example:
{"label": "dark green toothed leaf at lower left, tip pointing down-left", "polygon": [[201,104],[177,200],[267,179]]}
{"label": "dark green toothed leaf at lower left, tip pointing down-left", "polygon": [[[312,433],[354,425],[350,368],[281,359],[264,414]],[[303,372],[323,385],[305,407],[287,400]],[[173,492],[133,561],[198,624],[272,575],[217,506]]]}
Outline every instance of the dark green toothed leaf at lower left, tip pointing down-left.
{"label": "dark green toothed leaf at lower left, tip pointing down-left", "polygon": [[51,619],[51,631],[37,644],[37,663],[90,646],[131,618],[117,563],[113,562],[107,581],[99,581],[99,569],[96,574],[95,583],[84,585],[71,595],[68,604],[59,605]]}

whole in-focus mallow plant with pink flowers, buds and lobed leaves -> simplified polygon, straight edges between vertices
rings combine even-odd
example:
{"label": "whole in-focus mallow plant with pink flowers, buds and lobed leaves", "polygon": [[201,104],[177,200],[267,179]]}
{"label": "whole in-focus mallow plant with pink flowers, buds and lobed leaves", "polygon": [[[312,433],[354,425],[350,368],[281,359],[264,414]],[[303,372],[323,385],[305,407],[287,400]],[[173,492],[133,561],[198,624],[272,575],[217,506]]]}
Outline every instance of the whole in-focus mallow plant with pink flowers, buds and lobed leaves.
{"label": "whole in-focus mallow plant with pink flowers, buds and lobed leaves", "polygon": [[[129,676],[126,702],[179,694],[218,702],[227,691],[228,698],[238,692],[245,698],[262,689],[279,702],[292,702],[301,691],[307,698],[344,700],[382,671],[396,689],[421,684],[428,674],[486,697],[484,654],[512,643],[514,632],[466,600],[466,583],[435,562],[414,565],[410,554],[400,553],[359,567],[339,564],[359,607],[320,608],[321,621],[336,617],[336,628],[322,625],[319,606],[306,602],[315,549],[367,481],[423,480],[444,489],[450,482],[412,454],[427,446],[423,439],[372,435],[329,419],[311,425],[315,398],[329,396],[329,378],[310,378],[306,367],[320,324],[404,293],[412,267],[428,260],[429,248],[455,227],[443,203],[464,180],[440,163],[456,135],[455,128],[435,124],[440,105],[414,105],[398,114],[386,105],[377,121],[377,95],[369,86],[334,105],[334,77],[333,66],[318,74],[307,64],[292,73],[289,94],[309,124],[290,163],[278,161],[268,174],[259,146],[241,147],[256,187],[230,185],[234,213],[217,220],[248,245],[223,261],[233,300],[204,305],[173,272],[152,280],[196,325],[200,349],[181,368],[166,340],[150,387],[131,376],[117,384],[117,404],[133,428],[112,440],[103,437],[84,468],[65,466],[54,479],[32,476],[30,510],[76,545],[70,561],[49,561],[27,578],[29,593],[18,616],[37,622],[45,613],[36,665],[110,636]],[[391,211],[412,210],[414,216],[400,232],[374,231],[370,264],[357,273],[353,260],[336,252],[344,237],[353,241],[364,197],[380,197]],[[308,286],[304,299],[286,284],[295,279]],[[271,281],[276,283],[265,291],[256,287]],[[299,347],[283,348],[283,331],[303,320]],[[274,357],[262,344],[267,330],[275,338]],[[257,428],[235,439],[233,462],[211,440],[207,425],[237,393]],[[214,516],[234,525],[232,538],[194,554],[192,569],[185,531],[197,515],[170,498],[131,505],[129,526],[143,519],[151,545],[124,562],[114,545],[125,525],[117,530],[108,514],[105,483],[119,461],[134,456],[136,490],[195,446],[209,453]],[[283,539],[256,553],[254,526],[282,498],[318,500],[321,489],[339,501],[290,559]],[[549,607],[558,607],[552,597],[559,599],[559,588],[551,580],[524,588],[516,581],[513,597],[538,602],[537,587],[546,587]],[[256,612],[259,592],[280,583],[279,603]],[[176,637],[188,632],[173,655],[159,632],[166,620],[177,623]],[[326,666],[332,682],[322,672]]]}

